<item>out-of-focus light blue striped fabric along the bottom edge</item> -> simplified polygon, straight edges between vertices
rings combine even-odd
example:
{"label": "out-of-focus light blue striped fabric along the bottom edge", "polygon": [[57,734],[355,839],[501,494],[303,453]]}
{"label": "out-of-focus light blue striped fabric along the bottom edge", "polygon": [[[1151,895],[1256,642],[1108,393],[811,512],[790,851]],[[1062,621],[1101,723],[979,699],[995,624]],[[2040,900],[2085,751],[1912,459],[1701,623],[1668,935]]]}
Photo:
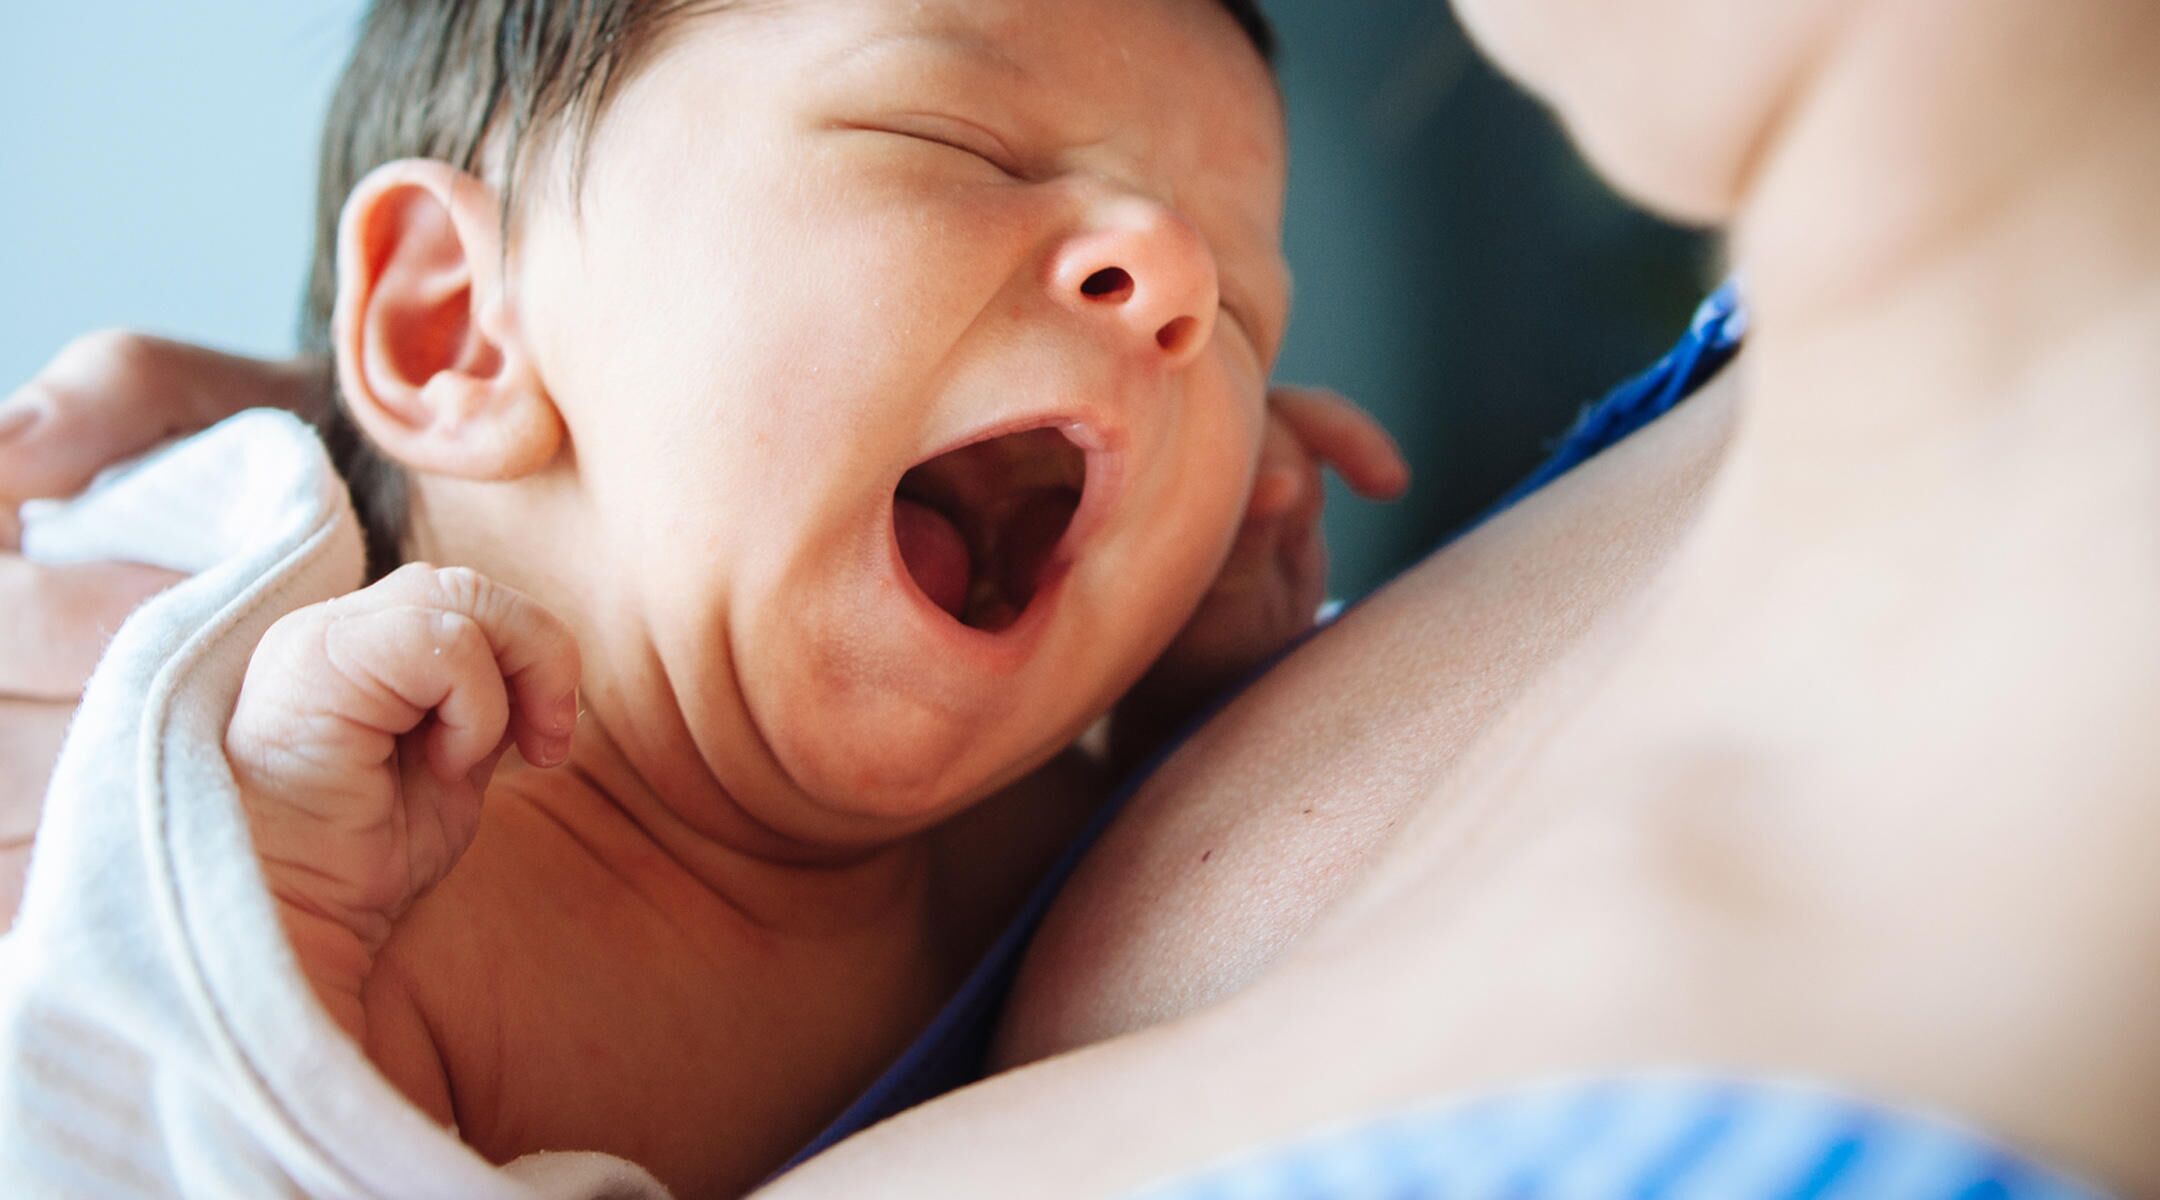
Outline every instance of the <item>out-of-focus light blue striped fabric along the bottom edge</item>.
{"label": "out-of-focus light blue striped fabric along the bottom edge", "polygon": [[2097,1200],[1957,1124],[1791,1081],[1618,1077],[1346,1124],[1138,1200]]}

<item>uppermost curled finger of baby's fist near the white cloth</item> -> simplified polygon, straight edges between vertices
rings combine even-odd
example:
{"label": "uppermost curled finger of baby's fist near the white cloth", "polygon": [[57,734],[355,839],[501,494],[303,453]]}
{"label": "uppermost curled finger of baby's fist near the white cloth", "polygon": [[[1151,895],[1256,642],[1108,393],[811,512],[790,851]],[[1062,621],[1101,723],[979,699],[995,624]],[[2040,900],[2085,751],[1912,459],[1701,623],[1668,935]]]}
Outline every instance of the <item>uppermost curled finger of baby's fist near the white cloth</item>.
{"label": "uppermost curled finger of baby's fist near the white cloth", "polygon": [[[508,688],[508,732],[518,753],[534,766],[568,758],[577,729],[579,656],[577,637],[562,617],[523,591],[464,568],[406,565],[361,596],[376,594],[471,617],[486,635]],[[352,600],[359,596],[346,602]]]}

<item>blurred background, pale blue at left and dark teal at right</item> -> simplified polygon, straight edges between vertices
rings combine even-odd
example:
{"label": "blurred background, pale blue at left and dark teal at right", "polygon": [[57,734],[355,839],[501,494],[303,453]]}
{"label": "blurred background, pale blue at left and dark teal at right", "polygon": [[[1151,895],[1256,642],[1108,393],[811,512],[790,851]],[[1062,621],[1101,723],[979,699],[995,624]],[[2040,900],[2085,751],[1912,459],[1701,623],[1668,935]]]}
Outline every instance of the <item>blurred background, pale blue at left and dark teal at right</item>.
{"label": "blurred background, pale blue at left and dark teal at right", "polygon": [[[1523,475],[1676,337],[1706,244],[1631,212],[1441,0],[1272,0],[1298,309],[1279,378],[1402,440],[1398,505],[1335,488],[1361,596]],[[125,326],[289,354],[313,153],[359,0],[0,9],[0,393]]]}

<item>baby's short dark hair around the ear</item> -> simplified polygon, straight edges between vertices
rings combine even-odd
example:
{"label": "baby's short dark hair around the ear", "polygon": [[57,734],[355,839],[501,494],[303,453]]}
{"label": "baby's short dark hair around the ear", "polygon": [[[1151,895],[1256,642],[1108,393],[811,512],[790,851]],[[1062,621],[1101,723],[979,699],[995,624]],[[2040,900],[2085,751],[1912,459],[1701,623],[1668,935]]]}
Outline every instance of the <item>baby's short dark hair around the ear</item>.
{"label": "baby's short dark hair around the ear", "polygon": [[[311,419],[352,488],[372,576],[402,557],[406,479],[346,414],[328,365],[337,218],[346,196],[384,162],[432,158],[492,179],[508,224],[536,147],[568,138],[575,179],[624,80],[685,17],[732,2],[739,0],[376,0],[361,17],[322,132],[300,345],[324,358]],[[1274,32],[1257,0],[1218,2],[1272,65]]]}

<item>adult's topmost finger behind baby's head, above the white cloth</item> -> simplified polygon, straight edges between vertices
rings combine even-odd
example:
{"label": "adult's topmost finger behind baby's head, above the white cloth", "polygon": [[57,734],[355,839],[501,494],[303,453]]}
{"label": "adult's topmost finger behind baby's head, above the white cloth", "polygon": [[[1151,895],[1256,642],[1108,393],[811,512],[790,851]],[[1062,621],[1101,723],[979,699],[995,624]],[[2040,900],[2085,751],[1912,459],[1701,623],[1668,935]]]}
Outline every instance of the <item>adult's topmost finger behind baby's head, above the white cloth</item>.
{"label": "adult's topmost finger behind baby's head, above the white cloth", "polygon": [[93,475],[244,408],[307,410],[320,360],[261,360],[160,337],[95,332],[67,343],[0,401],[0,503],[71,496]]}

